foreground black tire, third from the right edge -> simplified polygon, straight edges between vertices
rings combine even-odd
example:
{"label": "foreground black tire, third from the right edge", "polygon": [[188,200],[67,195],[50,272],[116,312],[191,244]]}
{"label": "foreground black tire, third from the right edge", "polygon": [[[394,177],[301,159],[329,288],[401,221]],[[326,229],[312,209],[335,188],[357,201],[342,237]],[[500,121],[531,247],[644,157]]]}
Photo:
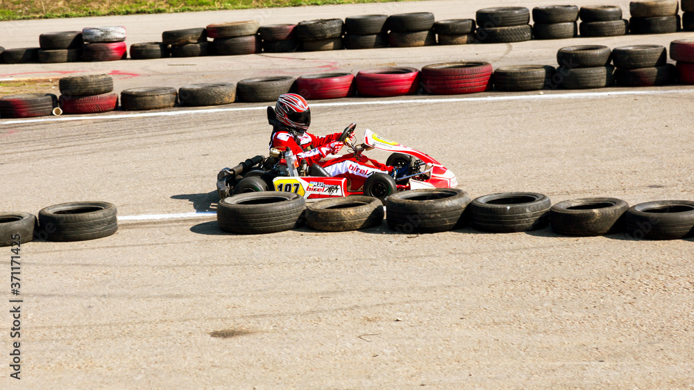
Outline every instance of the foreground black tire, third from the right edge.
{"label": "foreground black tire, third from the right edge", "polygon": [[514,233],[546,227],[550,198],[539,193],[498,193],[471,202],[471,225],[480,231]]}

